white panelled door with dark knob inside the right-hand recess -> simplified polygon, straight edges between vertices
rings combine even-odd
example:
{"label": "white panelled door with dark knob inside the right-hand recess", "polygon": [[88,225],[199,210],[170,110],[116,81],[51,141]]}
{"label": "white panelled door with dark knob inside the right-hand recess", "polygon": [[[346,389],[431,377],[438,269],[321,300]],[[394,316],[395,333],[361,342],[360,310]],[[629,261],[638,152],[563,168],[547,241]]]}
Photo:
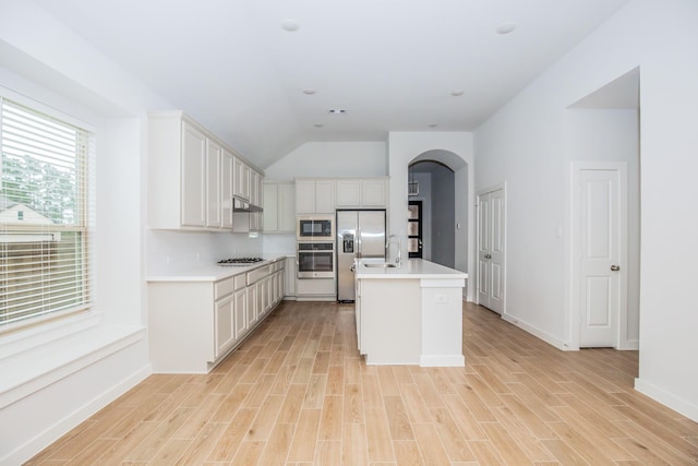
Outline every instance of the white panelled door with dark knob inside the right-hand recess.
{"label": "white panelled door with dark knob inside the right-hand recess", "polygon": [[618,166],[580,168],[576,177],[579,346],[617,347],[627,313],[627,175]]}

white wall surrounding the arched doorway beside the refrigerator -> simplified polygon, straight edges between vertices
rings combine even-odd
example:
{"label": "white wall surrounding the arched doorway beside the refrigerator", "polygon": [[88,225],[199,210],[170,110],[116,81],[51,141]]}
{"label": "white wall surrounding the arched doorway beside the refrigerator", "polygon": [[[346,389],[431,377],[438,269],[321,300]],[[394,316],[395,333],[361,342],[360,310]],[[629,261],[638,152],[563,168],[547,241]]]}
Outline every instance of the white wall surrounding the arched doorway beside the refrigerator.
{"label": "white wall surrounding the arched doorway beside the refrigerator", "polygon": [[[464,160],[454,174],[456,191],[456,223],[467,228],[456,230],[455,267],[462,272],[474,270],[474,210],[468,199],[474,199],[473,135],[467,132],[390,132],[388,134],[388,176],[390,177],[390,213],[388,234],[402,239],[402,255],[407,256],[407,183],[409,163],[430,151],[446,151]],[[473,300],[472,275],[466,283],[467,299]]]}

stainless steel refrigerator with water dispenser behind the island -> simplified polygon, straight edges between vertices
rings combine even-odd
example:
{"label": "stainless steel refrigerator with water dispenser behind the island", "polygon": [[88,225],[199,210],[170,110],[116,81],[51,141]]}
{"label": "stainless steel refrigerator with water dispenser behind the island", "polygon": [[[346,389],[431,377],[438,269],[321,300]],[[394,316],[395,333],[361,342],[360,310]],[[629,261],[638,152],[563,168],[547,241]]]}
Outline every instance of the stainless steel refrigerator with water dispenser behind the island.
{"label": "stainless steel refrigerator with water dispenser behind the island", "polygon": [[337,211],[337,300],[353,301],[354,259],[385,259],[385,211]]}

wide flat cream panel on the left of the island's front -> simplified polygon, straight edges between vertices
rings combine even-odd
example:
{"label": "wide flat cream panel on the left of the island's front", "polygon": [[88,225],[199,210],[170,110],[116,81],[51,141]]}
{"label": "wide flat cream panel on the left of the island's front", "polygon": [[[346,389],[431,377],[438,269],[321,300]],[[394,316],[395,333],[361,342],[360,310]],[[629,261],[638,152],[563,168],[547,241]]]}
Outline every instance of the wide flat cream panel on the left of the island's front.
{"label": "wide flat cream panel on the left of the island's front", "polygon": [[368,365],[419,365],[419,279],[360,279],[361,353]]}

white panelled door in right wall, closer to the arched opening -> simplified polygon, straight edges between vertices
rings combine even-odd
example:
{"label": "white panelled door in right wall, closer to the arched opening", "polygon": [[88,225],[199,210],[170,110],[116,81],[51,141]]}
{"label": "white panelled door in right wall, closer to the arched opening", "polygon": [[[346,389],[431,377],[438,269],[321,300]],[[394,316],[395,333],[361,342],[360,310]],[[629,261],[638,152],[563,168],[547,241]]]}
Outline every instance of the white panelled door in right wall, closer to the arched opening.
{"label": "white panelled door in right wall, closer to the arched opening", "polygon": [[504,189],[478,195],[478,303],[504,312]]}

